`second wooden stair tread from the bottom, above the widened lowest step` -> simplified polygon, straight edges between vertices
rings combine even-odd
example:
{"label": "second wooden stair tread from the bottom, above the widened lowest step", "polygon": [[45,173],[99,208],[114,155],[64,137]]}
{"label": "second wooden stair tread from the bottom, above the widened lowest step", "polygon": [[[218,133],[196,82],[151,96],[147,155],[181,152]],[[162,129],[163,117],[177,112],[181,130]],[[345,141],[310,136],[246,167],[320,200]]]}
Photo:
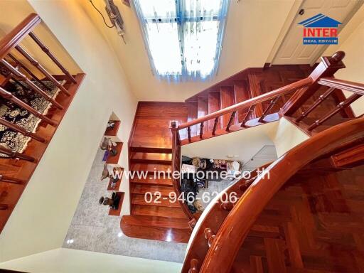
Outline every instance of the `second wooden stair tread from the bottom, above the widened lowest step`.
{"label": "second wooden stair tread from the bottom, above the widened lowest step", "polygon": [[188,219],[181,208],[168,208],[156,205],[133,205],[131,214]]}

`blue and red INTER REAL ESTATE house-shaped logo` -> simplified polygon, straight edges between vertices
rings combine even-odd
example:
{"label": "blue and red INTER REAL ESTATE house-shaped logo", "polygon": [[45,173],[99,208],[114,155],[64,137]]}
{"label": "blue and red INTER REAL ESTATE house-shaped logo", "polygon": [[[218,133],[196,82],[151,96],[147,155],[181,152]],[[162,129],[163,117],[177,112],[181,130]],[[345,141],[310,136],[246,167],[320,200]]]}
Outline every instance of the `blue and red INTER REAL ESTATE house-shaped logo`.
{"label": "blue and red INTER REAL ESTATE house-shaped logo", "polygon": [[323,14],[317,14],[301,21],[304,26],[304,45],[337,45],[339,21]]}

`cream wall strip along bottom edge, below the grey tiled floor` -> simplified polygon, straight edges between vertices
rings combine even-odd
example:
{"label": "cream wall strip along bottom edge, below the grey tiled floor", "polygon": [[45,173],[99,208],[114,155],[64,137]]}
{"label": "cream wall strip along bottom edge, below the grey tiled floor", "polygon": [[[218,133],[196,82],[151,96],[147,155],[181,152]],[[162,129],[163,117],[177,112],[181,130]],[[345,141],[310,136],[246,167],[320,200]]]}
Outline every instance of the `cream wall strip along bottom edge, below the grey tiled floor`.
{"label": "cream wall strip along bottom edge, below the grey tiled floor", "polygon": [[30,273],[181,272],[182,264],[83,250],[58,248],[0,263],[0,268]]}

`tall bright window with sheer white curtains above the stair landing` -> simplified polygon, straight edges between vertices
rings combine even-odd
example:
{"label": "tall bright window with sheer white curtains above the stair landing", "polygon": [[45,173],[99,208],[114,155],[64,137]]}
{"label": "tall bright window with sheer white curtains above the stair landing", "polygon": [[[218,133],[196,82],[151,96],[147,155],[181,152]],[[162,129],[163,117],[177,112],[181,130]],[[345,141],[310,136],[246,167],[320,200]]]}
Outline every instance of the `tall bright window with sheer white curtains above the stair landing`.
{"label": "tall bright window with sheer white curtains above the stair landing", "polygon": [[229,0],[134,0],[151,67],[169,80],[215,75]]}

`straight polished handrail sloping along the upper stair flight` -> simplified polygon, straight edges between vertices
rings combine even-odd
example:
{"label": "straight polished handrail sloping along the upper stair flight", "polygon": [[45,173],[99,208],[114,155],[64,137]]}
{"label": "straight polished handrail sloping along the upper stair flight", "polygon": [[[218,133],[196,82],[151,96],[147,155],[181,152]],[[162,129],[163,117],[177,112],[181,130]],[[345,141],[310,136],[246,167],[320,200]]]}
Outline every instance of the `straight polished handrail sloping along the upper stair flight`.
{"label": "straight polished handrail sloping along the upper stair flight", "polygon": [[257,105],[260,102],[265,102],[267,100],[272,100],[275,97],[279,97],[282,95],[286,95],[289,92],[292,92],[294,90],[301,89],[303,87],[306,87],[308,85],[311,85],[312,79],[311,77],[306,77],[303,80],[299,80],[297,82],[293,82],[289,85],[286,85],[284,87],[277,88],[276,90],[273,90],[271,92],[267,92],[263,95],[259,95],[257,97],[253,97],[249,100],[245,100],[244,102],[237,103],[236,105],[231,105],[229,107],[226,107],[224,109],[220,109],[219,111],[213,112],[211,114],[205,115],[205,117],[200,117],[198,119],[194,119],[191,122],[185,122],[183,124],[178,125],[178,130],[191,127],[196,124],[200,124],[202,122],[208,121],[209,119],[214,119],[215,117],[220,117],[223,114],[230,114],[230,112],[234,112],[237,110],[249,108],[252,105]]}

